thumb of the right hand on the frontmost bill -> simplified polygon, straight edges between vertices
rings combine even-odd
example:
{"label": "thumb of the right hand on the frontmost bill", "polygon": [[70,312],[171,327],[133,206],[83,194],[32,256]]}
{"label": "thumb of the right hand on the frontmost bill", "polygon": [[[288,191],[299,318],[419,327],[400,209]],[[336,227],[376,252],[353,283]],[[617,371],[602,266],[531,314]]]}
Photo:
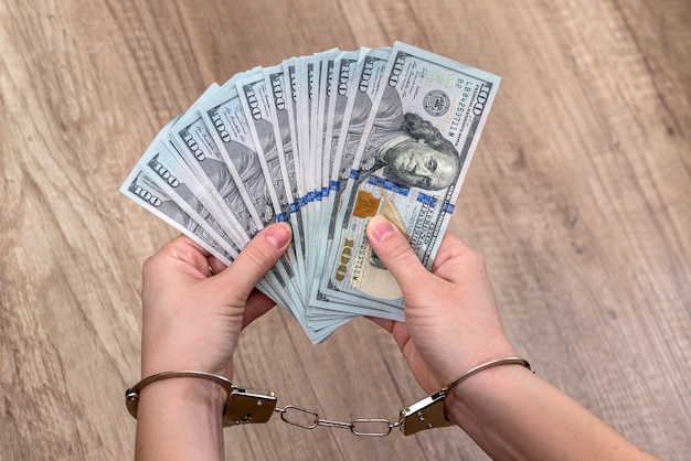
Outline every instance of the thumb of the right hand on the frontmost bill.
{"label": "thumb of the right hand on the frontmost bill", "polygon": [[386,269],[405,293],[425,277],[427,269],[422,265],[411,244],[401,230],[383,216],[374,216],[368,223],[368,240]]}

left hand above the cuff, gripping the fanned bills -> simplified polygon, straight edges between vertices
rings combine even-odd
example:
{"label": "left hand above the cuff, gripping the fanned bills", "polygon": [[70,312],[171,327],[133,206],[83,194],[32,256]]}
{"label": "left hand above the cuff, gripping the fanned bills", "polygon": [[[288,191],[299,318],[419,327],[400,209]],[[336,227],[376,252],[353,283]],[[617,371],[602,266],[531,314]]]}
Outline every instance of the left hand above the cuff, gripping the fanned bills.
{"label": "left hand above the cuff, gripping the fanned bills", "polygon": [[184,236],[147,259],[142,376],[194,369],[232,378],[240,332],[275,304],[254,287],[285,253],[290,237],[289,226],[268,226],[227,268]]}

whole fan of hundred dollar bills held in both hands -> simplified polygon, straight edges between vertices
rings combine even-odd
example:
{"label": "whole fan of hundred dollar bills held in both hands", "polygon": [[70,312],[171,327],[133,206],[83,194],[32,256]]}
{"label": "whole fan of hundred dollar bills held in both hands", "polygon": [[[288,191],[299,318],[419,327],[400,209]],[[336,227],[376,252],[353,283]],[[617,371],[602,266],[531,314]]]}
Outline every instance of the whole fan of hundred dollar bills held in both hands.
{"label": "whole fan of hundred dollar bills held in both hands", "polygon": [[313,343],[358,315],[403,321],[365,226],[386,216],[432,267],[498,86],[401,42],[291,57],[209,87],[120,191],[227,265],[289,223],[294,242],[258,288]]}

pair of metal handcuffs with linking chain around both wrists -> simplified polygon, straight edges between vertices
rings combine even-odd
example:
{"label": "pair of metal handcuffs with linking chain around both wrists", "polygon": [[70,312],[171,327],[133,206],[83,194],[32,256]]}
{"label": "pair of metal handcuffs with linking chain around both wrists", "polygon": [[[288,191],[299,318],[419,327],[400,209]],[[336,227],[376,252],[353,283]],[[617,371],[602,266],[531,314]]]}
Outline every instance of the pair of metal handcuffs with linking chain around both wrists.
{"label": "pair of metal handcuffs with linking chain around both wrists", "polygon": [[530,364],[521,357],[506,357],[486,362],[454,378],[442,389],[428,395],[407,408],[401,410],[398,420],[391,422],[384,418],[355,418],[350,422],[334,421],[320,418],[316,411],[308,410],[295,405],[277,407],[278,398],[274,390],[248,389],[236,387],[225,377],[206,372],[163,372],[151,375],[125,393],[125,404],[130,415],[137,418],[139,407],[139,393],[149,384],[161,379],[193,377],[216,383],[227,392],[227,398],[223,407],[223,427],[246,424],[267,422],[274,412],[280,414],[280,419],[293,426],[305,429],[315,429],[318,426],[350,429],[355,436],[383,437],[391,433],[397,427],[405,436],[419,432],[425,429],[453,426],[444,411],[444,404],[448,393],[460,382],[483,369],[498,365],[522,365],[528,369]]}

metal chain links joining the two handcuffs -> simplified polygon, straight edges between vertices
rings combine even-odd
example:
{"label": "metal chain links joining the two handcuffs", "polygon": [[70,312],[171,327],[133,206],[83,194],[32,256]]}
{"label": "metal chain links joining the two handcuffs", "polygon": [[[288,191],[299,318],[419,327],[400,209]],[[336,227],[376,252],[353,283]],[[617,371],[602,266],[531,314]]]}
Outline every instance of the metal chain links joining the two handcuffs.
{"label": "metal chain links joining the two handcuffs", "polygon": [[[391,433],[393,428],[401,426],[401,421],[391,422],[385,418],[355,418],[350,422],[336,421],[332,419],[320,418],[319,414],[295,405],[286,405],[283,408],[276,407],[274,411],[280,414],[280,419],[285,422],[300,427],[302,429],[315,429],[318,426],[328,428],[349,429],[355,436],[364,437],[384,437]],[[291,416],[290,416],[291,415]],[[299,416],[298,416],[299,415]],[[298,417],[309,418],[299,420]],[[381,430],[365,430],[362,428],[374,427]]]}

